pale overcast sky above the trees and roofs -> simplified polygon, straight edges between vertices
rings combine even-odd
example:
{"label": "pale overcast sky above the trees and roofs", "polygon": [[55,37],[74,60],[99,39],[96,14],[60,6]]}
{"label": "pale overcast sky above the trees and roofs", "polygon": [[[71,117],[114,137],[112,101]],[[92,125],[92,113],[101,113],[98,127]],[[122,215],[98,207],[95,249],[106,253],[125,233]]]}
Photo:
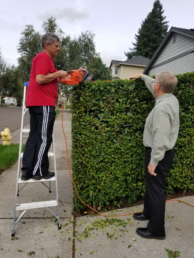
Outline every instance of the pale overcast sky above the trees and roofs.
{"label": "pale overcast sky above the trees and roofs", "polygon": [[[141,21],[154,0],[6,0],[0,1],[0,48],[8,64],[17,64],[17,46],[26,24],[41,31],[41,24],[53,15],[61,29],[72,37],[92,30],[96,50],[109,66],[112,59],[126,60]],[[171,26],[194,28],[193,0],[161,0]]]}

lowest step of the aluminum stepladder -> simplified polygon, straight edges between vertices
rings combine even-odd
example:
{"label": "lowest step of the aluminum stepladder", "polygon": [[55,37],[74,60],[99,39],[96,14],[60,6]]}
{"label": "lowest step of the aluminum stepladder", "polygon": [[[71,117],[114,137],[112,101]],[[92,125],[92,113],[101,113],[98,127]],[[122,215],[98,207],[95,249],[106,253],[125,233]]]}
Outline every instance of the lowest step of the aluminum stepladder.
{"label": "lowest step of the aluminum stepladder", "polygon": [[44,208],[44,207],[52,207],[52,206],[57,206],[57,200],[17,204],[16,210],[28,210],[28,209],[36,209],[36,208]]}

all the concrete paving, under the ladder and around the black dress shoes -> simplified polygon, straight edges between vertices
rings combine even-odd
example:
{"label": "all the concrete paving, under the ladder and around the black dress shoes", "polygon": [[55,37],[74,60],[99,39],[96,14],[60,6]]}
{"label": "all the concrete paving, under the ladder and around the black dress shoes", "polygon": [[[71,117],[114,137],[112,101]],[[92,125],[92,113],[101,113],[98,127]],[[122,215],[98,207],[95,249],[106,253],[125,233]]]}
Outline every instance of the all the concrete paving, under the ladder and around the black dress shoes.
{"label": "all the concrete paving, under the ladder and around the black dress shoes", "polygon": [[[54,138],[60,215],[63,227],[58,230],[54,223],[54,217],[47,209],[28,210],[16,225],[15,236],[18,239],[11,240],[17,173],[16,163],[12,166],[12,169],[4,171],[0,176],[0,258],[26,257],[27,253],[32,251],[35,252],[35,256],[41,258],[72,257],[73,190],[67,167],[66,145],[61,122],[62,115],[60,113],[54,124]],[[63,124],[68,144],[69,164],[71,165],[71,113],[68,111],[64,111]],[[17,139],[19,139],[18,134],[15,134],[12,140],[17,142]],[[52,185],[52,193],[49,193],[48,189],[40,183],[28,184],[20,192],[18,203],[53,200],[55,198],[54,192],[54,185]],[[180,198],[180,200],[182,199],[184,198]],[[185,197],[184,201],[194,205],[194,196]],[[142,208],[142,206],[135,206],[132,209],[117,209],[116,214],[140,211]],[[114,213],[107,212],[106,214],[113,215]],[[47,218],[45,218],[46,216]],[[95,228],[96,225],[94,224],[101,223],[102,225],[104,224],[103,220],[105,220],[104,216],[76,218],[75,258],[80,257],[80,255],[84,258],[168,258],[165,248],[180,251],[180,258],[194,257],[194,208],[187,204],[175,201],[167,202],[165,213],[166,239],[163,241],[144,239],[137,235],[136,228],[145,227],[147,221],[134,220],[132,215],[114,218],[116,224],[105,224],[104,228],[97,225],[97,228]],[[90,230],[85,237],[84,230],[88,225]],[[47,227],[43,228],[43,226]],[[107,233],[114,235],[110,239]],[[18,250],[23,252],[21,253]],[[91,251],[94,251],[93,254],[91,254]],[[32,256],[34,257],[34,255]]]}

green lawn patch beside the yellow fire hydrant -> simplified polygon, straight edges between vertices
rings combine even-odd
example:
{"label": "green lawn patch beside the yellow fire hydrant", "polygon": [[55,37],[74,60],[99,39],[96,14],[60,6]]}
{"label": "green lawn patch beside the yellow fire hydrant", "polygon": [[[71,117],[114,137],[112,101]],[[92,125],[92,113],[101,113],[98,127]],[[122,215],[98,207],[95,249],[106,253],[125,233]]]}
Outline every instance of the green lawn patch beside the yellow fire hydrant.
{"label": "green lawn patch beside the yellow fire hydrant", "polygon": [[[18,159],[20,144],[11,143],[9,146],[0,144],[0,174],[8,169]],[[24,152],[25,144],[23,144],[22,152]]]}

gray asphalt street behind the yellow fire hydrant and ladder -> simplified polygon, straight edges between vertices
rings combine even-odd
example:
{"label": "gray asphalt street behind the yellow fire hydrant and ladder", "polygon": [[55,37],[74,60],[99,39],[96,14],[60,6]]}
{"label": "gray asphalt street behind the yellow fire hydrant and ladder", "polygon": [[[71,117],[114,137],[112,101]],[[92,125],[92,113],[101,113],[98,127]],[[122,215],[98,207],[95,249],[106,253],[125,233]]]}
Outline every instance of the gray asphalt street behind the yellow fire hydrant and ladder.
{"label": "gray asphalt street behind the yellow fire hydrant and ladder", "polygon": [[[22,122],[22,107],[5,106],[0,107],[0,131],[4,131],[8,126],[10,132],[14,132],[21,128]],[[24,125],[30,123],[29,113],[24,118]]]}

